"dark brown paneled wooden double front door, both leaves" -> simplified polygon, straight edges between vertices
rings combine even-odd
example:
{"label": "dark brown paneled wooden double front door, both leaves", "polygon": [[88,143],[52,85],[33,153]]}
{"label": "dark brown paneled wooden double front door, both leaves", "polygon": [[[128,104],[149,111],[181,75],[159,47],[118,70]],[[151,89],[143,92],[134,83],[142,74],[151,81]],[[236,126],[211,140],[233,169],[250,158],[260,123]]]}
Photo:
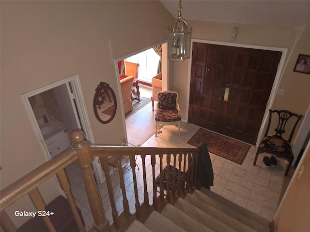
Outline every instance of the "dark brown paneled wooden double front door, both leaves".
{"label": "dark brown paneled wooden double front door, both leaves", "polygon": [[255,145],[281,55],[193,43],[188,122]]}

